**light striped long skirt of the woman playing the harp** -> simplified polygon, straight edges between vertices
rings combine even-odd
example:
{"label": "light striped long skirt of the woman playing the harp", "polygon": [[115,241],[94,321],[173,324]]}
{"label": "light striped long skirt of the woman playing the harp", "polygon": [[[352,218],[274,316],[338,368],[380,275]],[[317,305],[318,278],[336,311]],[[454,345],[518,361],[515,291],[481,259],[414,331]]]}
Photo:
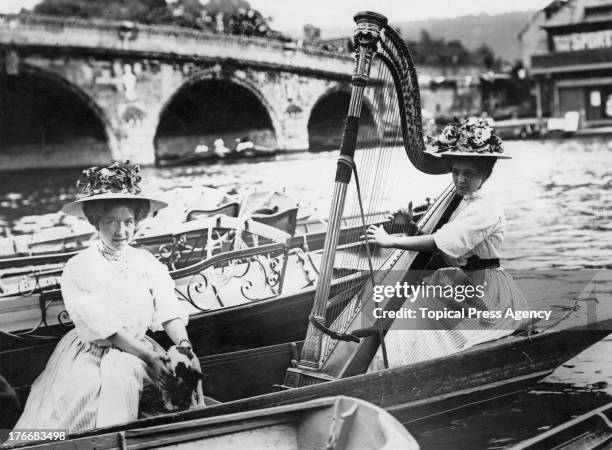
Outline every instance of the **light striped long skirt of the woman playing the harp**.
{"label": "light striped long skirt of the woman playing the harp", "polygon": [[[504,317],[508,309],[528,311],[529,305],[516,282],[503,269],[485,269],[464,272],[457,267],[439,269],[423,280],[424,286],[482,286],[480,298],[441,298],[419,296],[412,305],[415,309],[425,307],[429,311],[464,311],[470,308],[481,312],[497,312],[501,318],[490,318],[481,314],[464,319],[431,319],[417,314],[415,321],[397,320],[385,335],[385,346],[389,367],[400,367],[434,358],[440,358],[466,350],[476,344],[492,341],[512,334],[528,323]],[[458,291],[457,291],[458,292]],[[420,311],[419,311],[420,313]],[[486,318],[486,317],[489,318]],[[369,372],[384,369],[382,350],[379,348],[370,363]]]}

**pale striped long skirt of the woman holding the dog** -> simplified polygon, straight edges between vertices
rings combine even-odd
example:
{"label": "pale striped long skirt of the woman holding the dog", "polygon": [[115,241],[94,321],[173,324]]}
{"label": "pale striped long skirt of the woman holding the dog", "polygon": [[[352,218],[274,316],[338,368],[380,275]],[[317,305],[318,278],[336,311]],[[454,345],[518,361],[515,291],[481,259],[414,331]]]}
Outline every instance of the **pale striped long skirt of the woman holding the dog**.
{"label": "pale striped long skirt of the woman holding the dog", "polygon": [[32,385],[15,430],[71,434],[136,420],[145,382],[150,377],[142,360],[113,346],[81,342],[72,330]]}

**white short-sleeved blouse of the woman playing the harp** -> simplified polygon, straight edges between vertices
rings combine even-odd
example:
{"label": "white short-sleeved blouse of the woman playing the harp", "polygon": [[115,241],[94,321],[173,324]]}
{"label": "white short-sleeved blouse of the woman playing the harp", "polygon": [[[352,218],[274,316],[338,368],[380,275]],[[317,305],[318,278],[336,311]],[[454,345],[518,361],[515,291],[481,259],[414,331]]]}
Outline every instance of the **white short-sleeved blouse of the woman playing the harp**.
{"label": "white short-sleeved blouse of the woman playing the harp", "polygon": [[480,188],[466,195],[449,221],[433,234],[436,246],[453,266],[467,258],[500,258],[506,219],[497,201]]}

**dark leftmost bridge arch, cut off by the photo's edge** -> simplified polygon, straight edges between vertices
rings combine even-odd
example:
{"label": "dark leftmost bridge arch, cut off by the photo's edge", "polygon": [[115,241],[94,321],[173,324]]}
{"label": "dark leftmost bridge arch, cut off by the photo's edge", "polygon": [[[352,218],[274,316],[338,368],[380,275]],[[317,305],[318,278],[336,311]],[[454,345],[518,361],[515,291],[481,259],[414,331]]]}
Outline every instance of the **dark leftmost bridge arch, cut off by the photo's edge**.
{"label": "dark leftmost bridge arch, cut off by the photo's edge", "polygon": [[107,115],[86,92],[23,63],[18,74],[0,73],[0,130],[5,169],[103,164],[117,145]]}

